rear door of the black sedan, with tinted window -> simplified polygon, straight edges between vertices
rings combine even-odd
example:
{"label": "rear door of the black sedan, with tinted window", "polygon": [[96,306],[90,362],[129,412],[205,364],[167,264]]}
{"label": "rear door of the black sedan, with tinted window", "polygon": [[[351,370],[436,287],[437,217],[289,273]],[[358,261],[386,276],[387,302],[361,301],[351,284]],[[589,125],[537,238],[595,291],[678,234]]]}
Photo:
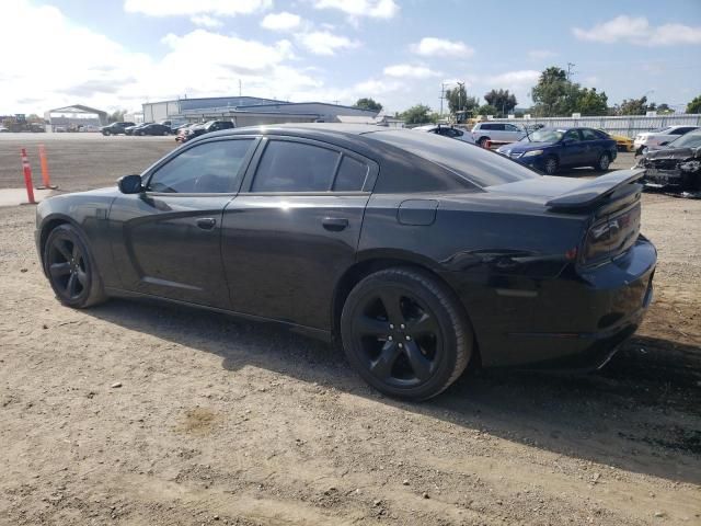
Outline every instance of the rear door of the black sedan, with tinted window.
{"label": "rear door of the black sedan, with tinted window", "polygon": [[263,139],[222,219],[233,310],[327,329],[377,164],[325,142]]}

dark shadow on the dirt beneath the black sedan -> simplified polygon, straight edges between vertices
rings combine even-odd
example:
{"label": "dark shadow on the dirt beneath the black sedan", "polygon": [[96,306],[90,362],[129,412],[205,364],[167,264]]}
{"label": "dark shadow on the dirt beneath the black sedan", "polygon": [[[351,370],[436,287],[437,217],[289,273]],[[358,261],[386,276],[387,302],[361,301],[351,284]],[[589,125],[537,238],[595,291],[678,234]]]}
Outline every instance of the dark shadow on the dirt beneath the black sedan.
{"label": "dark shadow on the dirt beneath the black sedan", "polygon": [[483,370],[421,404],[370,389],[337,348],[274,324],[151,302],[112,300],[88,311],[111,323],[402,411],[555,454],[701,484],[701,347],[635,336],[601,371]]}

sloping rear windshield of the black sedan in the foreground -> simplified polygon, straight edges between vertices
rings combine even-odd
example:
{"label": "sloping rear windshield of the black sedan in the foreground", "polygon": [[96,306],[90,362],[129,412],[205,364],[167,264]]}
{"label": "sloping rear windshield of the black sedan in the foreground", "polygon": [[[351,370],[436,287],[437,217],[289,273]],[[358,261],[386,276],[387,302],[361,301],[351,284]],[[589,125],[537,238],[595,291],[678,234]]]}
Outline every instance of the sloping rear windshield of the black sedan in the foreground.
{"label": "sloping rear windshield of the black sedan in the foreground", "polygon": [[498,153],[440,135],[387,130],[369,137],[435,162],[481,187],[540,176]]}

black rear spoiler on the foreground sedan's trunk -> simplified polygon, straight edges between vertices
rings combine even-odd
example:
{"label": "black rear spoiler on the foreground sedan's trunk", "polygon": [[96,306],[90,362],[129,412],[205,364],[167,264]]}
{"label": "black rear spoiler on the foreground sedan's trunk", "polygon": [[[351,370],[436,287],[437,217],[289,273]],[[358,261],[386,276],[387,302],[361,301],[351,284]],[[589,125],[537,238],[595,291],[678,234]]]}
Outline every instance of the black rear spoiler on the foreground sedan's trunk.
{"label": "black rear spoiler on the foreground sedan's trunk", "polygon": [[[645,174],[645,169],[617,170],[576,186],[570,192],[550,199],[545,205],[559,210],[579,211],[608,199],[613,192],[633,185]],[[639,191],[637,185],[631,191]]]}

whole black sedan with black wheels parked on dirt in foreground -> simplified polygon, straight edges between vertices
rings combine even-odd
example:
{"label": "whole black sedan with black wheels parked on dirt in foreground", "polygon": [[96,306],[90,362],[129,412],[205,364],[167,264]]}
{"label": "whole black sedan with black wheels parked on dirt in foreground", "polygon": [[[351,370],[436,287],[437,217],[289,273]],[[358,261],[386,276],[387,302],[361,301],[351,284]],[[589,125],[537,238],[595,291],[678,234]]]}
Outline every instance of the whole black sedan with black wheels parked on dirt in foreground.
{"label": "whole black sedan with black wheels parked on dirt in foreground", "polygon": [[413,400],[482,366],[606,363],[652,298],[641,171],[540,176],[456,140],[289,125],[187,142],[118,187],[37,207],[58,299],[273,320],[341,342]]}

